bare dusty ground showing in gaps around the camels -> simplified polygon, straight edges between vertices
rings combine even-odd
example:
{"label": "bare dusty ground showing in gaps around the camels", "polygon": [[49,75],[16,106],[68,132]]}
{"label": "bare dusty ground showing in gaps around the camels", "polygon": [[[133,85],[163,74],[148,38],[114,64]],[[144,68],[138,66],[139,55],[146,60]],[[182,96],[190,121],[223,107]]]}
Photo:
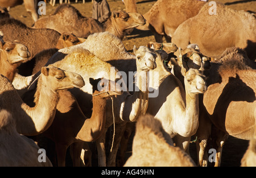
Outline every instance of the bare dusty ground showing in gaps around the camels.
{"label": "bare dusty ground showing in gaps around the camels", "polygon": [[[75,3],[74,1],[71,1],[71,2],[72,2],[72,5],[75,6],[81,12],[82,15],[87,17],[92,16],[92,3],[90,1],[87,0],[85,4],[82,4],[81,1],[79,1],[79,3]],[[148,1],[137,0],[138,12],[140,12],[141,14],[144,14],[152,7],[152,5],[154,5],[155,2],[156,1],[152,1],[152,0],[148,0]],[[245,10],[245,11],[249,10],[249,11],[256,12],[255,0],[254,1],[220,0],[218,2],[225,3],[227,6],[235,10]],[[115,0],[115,1],[108,0],[108,3],[111,11],[125,10],[125,6],[123,5],[121,0]],[[49,4],[47,4],[46,15],[52,14],[58,5],[59,3],[57,3],[55,7],[52,7]],[[28,27],[31,27],[33,24],[31,15],[26,12],[26,10],[24,9],[24,5],[13,7],[10,10],[10,14],[11,16],[13,16],[13,18],[19,19],[23,23],[27,24]],[[150,31],[147,31],[147,32],[135,31],[123,40],[123,44],[126,46],[126,49],[131,52],[134,45],[136,46],[146,45],[148,41],[154,41],[154,36],[152,36],[152,33]],[[248,145],[248,141],[243,141],[240,139],[236,139],[234,137],[229,137],[228,141],[224,146],[224,150],[222,153],[221,166],[240,166],[240,160],[245,150],[247,149],[247,145]],[[192,158],[196,161],[196,156],[194,154],[195,143],[191,143],[190,151],[191,151]]]}

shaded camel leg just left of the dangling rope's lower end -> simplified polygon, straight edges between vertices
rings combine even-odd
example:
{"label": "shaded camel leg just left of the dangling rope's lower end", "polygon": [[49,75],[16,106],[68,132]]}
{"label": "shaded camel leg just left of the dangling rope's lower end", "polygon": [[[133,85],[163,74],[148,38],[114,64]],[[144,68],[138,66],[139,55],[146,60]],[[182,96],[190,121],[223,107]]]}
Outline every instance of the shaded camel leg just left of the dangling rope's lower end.
{"label": "shaded camel leg just left of the dangling rope's lower end", "polygon": [[98,151],[98,166],[100,167],[106,167],[105,141],[107,130],[108,128],[105,128],[104,133],[102,133],[101,137],[96,140],[96,146]]}

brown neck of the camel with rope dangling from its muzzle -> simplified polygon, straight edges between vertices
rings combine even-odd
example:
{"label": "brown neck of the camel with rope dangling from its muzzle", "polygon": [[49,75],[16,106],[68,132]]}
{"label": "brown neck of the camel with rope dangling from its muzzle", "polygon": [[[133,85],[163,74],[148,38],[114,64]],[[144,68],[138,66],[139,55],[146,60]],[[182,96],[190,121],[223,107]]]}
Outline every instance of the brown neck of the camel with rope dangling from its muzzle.
{"label": "brown neck of the camel with rope dangling from its muzzle", "polygon": [[[98,94],[94,92],[93,94]],[[102,94],[105,95],[105,94]],[[92,117],[85,120],[84,125],[77,134],[77,139],[92,142],[98,139],[105,129],[106,122],[106,98],[101,95],[93,96]]]}

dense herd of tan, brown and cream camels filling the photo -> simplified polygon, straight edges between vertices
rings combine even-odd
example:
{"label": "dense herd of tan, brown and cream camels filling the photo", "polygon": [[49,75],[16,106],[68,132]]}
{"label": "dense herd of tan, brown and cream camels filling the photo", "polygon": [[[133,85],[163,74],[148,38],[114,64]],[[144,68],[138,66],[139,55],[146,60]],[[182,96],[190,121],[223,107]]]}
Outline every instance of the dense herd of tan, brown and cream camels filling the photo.
{"label": "dense herd of tan, brown and cream camels filling the photo", "polygon": [[[229,135],[250,141],[241,166],[256,166],[254,14],[158,0],[141,15],[123,0],[105,24],[63,4],[28,27],[9,3],[0,0],[0,166],[63,167],[67,155],[73,166],[95,156],[98,166],[209,166],[209,149],[221,166]],[[155,41],[128,52],[134,28]]]}

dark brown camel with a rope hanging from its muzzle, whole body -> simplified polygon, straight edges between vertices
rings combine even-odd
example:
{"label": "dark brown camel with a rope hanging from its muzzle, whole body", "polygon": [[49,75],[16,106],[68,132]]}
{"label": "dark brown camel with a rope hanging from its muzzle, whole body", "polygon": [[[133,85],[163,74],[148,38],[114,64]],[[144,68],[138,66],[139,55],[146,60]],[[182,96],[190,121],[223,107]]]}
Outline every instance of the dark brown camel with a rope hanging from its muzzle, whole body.
{"label": "dark brown camel with a rope hanging from its muzzle, whole body", "polygon": [[[97,88],[97,84],[101,81],[102,90]],[[55,142],[58,166],[65,166],[65,155],[68,146],[76,143],[75,153],[72,157],[73,166],[79,166],[80,154],[84,142],[95,141],[103,133],[106,121],[106,100],[121,95],[121,87],[117,87],[116,83],[102,82],[102,79],[93,80],[93,112],[90,118],[87,118],[81,111],[75,97],[68,91],[61,91],[60,100],[57,104],[57,111],[52,125],[43,135],[51,138]],[[113,86],[116,86],[113,88]],[[111,87],[111,88],[110,88]],[[104,92],[105,91],[105,92]],[[63,132],[65,130],[65,132]],[[74,144],[73,144],[74,145]]]}

